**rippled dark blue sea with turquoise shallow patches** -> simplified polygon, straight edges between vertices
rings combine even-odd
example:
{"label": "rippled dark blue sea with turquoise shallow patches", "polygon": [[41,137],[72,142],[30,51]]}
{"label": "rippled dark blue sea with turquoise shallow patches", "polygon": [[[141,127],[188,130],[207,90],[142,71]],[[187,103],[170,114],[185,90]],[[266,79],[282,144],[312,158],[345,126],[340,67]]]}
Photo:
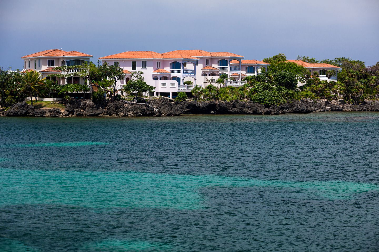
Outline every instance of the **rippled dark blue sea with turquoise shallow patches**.
{"label": "rippled dark blue sea with turquoise shallow patches", "polygon": [[379,248],[376,112],[0,128],[0,251]]}

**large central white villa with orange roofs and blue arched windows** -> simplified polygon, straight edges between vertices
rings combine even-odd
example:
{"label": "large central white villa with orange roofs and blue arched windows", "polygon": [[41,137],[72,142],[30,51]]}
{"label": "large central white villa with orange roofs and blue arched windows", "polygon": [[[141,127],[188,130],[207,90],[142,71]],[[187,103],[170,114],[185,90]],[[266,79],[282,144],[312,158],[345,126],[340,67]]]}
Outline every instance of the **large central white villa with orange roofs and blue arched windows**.
{"label": "large central white villa with orange roofs and blue arched windows", "polygon": [[[259,74],[262,67],[267,68],[269,65],[243,58],[228,52],[176,50],[168,53],[127,51],[100,57],[99,60],[108,65],[119,65],[124,70],[126,77],[117,83],[118,88],[125,85],[133,71],[142,71],[146,83],[155,87],[150,96],[173,97],[179,91],[190,92],[194,85],[204,87],[208,80],[215,83],[221,74],[232,78],[226,81],[226,85],[239,87],[246,83],[244,77]],[[183,84],[187,80],[192,85]]]}

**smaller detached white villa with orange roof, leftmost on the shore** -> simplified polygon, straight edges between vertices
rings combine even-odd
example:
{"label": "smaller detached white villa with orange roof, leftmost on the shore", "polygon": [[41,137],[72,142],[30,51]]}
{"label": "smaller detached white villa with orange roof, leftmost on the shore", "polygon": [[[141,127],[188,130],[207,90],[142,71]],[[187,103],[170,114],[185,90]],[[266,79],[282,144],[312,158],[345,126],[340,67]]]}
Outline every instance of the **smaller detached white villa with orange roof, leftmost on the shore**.
{"label": "smaller detached white villa with orange roof, leftmost on the shore", "polygon": [[[21,59],[24,60],[24,67],[22,71],[24,72],[28,70],[35,70],[41,73],[43,78],[46,77],[47,79],[50,79],[50,77],[47,77],[49,74],[62,73],[59,70],[54,70],[55,67],[64,65],[82,65],[84,62],[87,62],[89,64],[89,59],[91,58],[92,55],[80,53],[78,51],[66,52],[60,49],[50,49],[21,57]],[[75,73],[75,71],[79,70],[74,68],[72,70],[72,73]],[[56,80],[55,77],[52,77],[51,79]],[[57,81],[58,84],[61,85],[67,83],[80,83],[89,85],[89,83],[86,83],[85,80],[83,78],[80,78],[79,76],[73,76],[68,78],[67,80],[62,78],[58,79]]]}

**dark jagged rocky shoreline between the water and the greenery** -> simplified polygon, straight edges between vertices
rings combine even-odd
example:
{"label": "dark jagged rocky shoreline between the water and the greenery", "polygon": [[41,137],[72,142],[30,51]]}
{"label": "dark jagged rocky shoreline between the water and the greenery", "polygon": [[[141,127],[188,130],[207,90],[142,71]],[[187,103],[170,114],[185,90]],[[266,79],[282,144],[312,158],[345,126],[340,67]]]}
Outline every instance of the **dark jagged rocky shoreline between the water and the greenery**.
{"label": "dark jagged rocky shoreline between the water and the greenery", "polygon": [[58,108],[36,109],[26,102],[19,102],[8,110],[0,108],[0,116],[66,117],[66,116],[180,116],[181,114],[285,114],[318,111],[379,111],[379,102],[366,100],[359,105],[345,104],[343,100],[288,102],[265,107],[251,101],[196,101],[174,102],[160,97],[145,103],[108,102],[95,105],[91,100],[74,100],[64,110]]}

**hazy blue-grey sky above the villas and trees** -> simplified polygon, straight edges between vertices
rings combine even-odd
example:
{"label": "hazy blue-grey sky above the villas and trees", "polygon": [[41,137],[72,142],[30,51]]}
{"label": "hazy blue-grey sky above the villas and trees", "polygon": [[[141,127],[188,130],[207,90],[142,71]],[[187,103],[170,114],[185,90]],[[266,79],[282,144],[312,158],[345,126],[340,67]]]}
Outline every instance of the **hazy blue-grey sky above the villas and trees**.
{"label": "hazy blue-grey sky above the villas and trees", "polygon": [[379,0],[0,0],[0,66],[47,49],[379,61]]}

